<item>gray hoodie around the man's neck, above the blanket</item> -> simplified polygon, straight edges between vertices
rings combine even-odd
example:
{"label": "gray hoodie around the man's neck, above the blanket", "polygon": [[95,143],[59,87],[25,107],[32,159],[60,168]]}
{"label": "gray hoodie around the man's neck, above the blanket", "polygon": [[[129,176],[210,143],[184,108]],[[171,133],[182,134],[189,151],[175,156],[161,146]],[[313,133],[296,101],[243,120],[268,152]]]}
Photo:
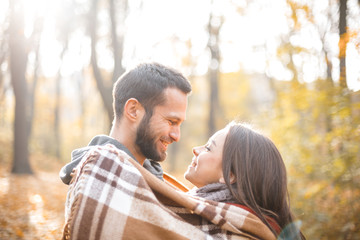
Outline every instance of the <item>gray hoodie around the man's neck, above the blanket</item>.
{"label": "gray hoodie around the man's neck, above the blanket", "polygon": [[[66,164],[64,167],[61,168],[59,176],[60,179],[65,184],[69,184],[71,181],[71,172],[72,170],[79,164],[81,159],[85,156],[85,154],[94,146],[103,146],[106,144],[112,144],[119,150],[126,152],[131,158],[135,159],[135,157],[131,154],[131,152],[121,143],[119,143],[114,138],[111,138],[106,135],[98,135],[95,136],[89,143],[87,147],[78,148],[71,152],[71,162]],[[136,159],[135,159],[136,160]],[[158,162],[145,159],[143,167],[147,169],[149,172],[154,174],[157,178],[163,180],[163,170]]]}

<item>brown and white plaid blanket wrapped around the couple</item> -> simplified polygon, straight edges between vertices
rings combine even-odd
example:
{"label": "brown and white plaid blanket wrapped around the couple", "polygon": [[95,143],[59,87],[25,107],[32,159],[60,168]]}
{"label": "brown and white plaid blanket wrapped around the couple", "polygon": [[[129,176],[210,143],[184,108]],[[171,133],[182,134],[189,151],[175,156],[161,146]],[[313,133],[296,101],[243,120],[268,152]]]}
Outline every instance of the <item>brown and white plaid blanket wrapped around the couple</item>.
{"label": "brown and white plaid blanket wrapped around the couple", "polygon": [[248,211],[177,191],[113,145],[75,169],[65,219],[63,239],[275,239]]}

